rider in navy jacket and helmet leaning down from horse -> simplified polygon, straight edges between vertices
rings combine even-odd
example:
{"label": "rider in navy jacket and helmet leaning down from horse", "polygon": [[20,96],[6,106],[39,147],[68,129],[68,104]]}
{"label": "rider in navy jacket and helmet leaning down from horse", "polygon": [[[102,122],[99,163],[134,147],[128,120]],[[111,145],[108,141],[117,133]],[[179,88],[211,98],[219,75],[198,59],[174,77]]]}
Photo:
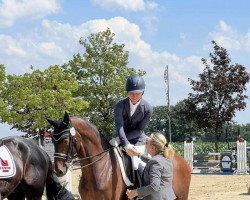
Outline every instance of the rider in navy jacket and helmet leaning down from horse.
{"label": "rider in navy jacket and helmet leaning down from horse", "polygon": [[[116,138],[128,154],[131,148],[136,148],[142,153],[146,150],[144,131],[153,109],[147,101],[142,99],[144,90],[145,82],[141,76],[137,74],[129,76],[126,82],[127,97],[115,105]],[[132,157],[134,170],[138,170],[140,163],[145,166],[145,163],[138,157]]]}

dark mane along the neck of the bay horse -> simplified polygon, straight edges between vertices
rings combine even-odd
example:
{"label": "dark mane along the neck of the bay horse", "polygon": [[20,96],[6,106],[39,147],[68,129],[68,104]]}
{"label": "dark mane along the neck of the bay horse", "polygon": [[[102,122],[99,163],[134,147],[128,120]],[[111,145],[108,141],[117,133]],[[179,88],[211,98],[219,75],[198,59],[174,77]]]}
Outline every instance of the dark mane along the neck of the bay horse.
{"label": "dark mane along the neck of the bay horse", "polygon": [[79,118],[79,117],[71,117],[70,119],[72,121],[76,121],[76,123],[79,123],[81,126],[83,126],[83,124],[86,124],[91,130],[93,130],[93,132],[95,133],[95,136],[100,138],[102,145],[105,149],[110,147],[108,139],[102,133],[100,133],[98,128],[94,124],[92,124],[90,121]]}

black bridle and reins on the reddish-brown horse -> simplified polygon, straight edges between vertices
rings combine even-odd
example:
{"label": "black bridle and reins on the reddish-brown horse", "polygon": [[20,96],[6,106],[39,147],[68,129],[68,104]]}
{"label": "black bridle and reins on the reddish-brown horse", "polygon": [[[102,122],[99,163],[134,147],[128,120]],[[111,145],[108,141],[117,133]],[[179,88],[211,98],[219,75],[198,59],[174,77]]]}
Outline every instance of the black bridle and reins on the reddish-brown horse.
{"label": "black bridle and reins on the reddish-brown horse", "polygon": [[[91,159],[91,158],[95,158],[95,157],[98,157],[100,155],[102,155],[100,158],[96,159],[95,161],[91,162],[91,163],[88,163],[86,165],[83,165],[81,167],[78,167],[78,168],[74,168],[75,170],[76,169],[81,169],[81,168],[85,168],[85,167],[89,167],[91,165],[93,165],[94,163],[98,162],[99,160],[101,160],[102,158],[104,158],[104,156],[113,148],[115,147],[111,147],[111,148],[108,148],[104,151],[102,151],[101,153],[99,154],[96,154],[96,155],[93,155],[93,156],[88,156],[88,157],[84,157],[84,158],[77,158],[77,155],[75,153],[75,145],[76,145],[76,139],[75,139],[75,128],[71,125],[71,123],[68,124],[67,128],[59,133],[56,133],[56,134],[51,134],[51,138],[52,138],[52,141],[54,143],[58,143],[66,138],[68,138],[69,140],[69,145],[68,145],[68,153],[67,154],[64,154],[64,153],[54,153],[54,157],[55,158],[61,158],[61,159],[64,159],[65,160],[65,165],[67,168],[69,168],[70,166],[72,166],[74,163],[79,163],[80,161],[82,160],[88,160],[88,159]],[[58,135],[60,136],[58,139],[55,138],[55,135]]]}

